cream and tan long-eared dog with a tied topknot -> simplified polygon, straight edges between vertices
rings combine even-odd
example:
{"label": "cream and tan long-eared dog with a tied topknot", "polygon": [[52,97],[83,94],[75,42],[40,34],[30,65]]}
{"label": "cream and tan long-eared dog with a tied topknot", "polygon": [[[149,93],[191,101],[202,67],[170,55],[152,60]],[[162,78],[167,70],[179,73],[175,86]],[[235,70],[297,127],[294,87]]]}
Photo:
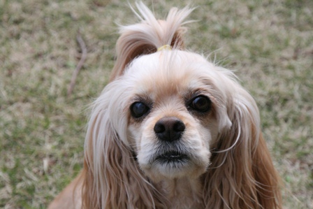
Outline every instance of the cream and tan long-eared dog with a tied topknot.
{"label": "cream and tan long-eared dog with a tied topknot", "polygon": [[92,106],[84,168],[49,208],[282,208],[256,102],[184,49],[192,9],[157,20],[136,6]]}

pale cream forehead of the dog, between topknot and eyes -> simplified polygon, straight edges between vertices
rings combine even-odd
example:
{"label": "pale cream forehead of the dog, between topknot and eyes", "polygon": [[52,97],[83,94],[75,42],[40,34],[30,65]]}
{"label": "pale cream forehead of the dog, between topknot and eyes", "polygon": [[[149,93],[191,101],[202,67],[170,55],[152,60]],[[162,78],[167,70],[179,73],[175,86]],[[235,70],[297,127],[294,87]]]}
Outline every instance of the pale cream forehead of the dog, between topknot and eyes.
{"label": "pale cream forehead of the dog, between topknot and eyes", "polygon": [[180,94],[203,85],[204,72],[197,68],[198,63],[206,64],[206,61],[192,53],[163,50],[134,60],[126,74],[133,80],[134,92],[138,94]]}

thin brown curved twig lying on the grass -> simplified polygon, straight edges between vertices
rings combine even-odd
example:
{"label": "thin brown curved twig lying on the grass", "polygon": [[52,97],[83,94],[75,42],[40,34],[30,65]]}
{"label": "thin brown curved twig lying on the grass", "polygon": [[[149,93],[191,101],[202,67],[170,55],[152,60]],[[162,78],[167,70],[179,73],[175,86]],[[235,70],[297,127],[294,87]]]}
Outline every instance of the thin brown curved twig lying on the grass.
{"label": "thin brown curved twig lying on the grass", "polygon": [[82,40],[82,36],[80,36],[80,32],[78,31],[78,35],[76,36],[76,39],[80,45],[80,49],[82,50],[82,56],[80,57],[80,62],[78,62],[78,65],[76,66],[75,71],[73,72],[71,84],[69,85],[67,89],[67,96],[71,96],[73,92],[73,88],[75,86],[76,78],[78,76],[78,73],[80,72],[80,69],[85,63],[86,57],[87,57],[87,48],[84,40]]}

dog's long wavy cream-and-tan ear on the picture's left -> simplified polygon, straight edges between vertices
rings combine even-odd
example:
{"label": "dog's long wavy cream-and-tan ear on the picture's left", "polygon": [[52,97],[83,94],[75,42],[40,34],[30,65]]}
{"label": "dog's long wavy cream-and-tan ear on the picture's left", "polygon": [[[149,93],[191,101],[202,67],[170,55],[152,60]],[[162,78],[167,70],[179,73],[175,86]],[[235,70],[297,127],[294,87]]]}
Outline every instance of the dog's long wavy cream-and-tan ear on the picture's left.
{"label": "dog's long wavy cream-and-tan ear on the picture's left", "polygon": [[[109,99],[104,99],[109,98]],[[110,97],[94,103],[85,139],[82,204],[85,208],[155,208],[160,194],[150,184],[130,148],[112,127]],[[117,119],[120,117],[116,115]],[[122,117],[122,116],[121,116]],[[126,130],[126,127],[124,127]]]}

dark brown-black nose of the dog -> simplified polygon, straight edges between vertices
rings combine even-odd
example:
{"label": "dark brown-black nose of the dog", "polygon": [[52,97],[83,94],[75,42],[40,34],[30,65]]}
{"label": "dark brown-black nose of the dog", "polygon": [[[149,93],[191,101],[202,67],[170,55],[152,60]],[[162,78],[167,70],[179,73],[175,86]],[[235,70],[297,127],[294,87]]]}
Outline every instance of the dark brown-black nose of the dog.
{"label": "dark brown-black nose of the dog", "polygon": [[179,140],[186,127],[177,117],[162,117],[155,125],[154,132],[160,140]]}

